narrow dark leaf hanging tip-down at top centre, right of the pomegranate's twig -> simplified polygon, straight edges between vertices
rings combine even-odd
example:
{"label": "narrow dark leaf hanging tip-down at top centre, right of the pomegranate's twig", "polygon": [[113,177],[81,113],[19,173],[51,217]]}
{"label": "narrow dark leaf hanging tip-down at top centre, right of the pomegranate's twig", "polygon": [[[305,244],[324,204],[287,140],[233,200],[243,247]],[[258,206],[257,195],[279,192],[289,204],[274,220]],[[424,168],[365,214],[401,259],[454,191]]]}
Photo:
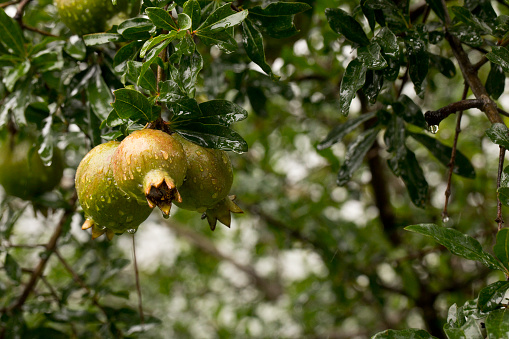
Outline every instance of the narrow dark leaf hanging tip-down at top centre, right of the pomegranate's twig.
{"label": "narrow dark leaf hanging tip-down at top centre, right of the pomegranate's twig", "polygon": [[265,60],[262,33],[250,20],[242,23],[242,42],[249,58],[272,79],[277,80],[279,77],[272,73],[272,69]]}

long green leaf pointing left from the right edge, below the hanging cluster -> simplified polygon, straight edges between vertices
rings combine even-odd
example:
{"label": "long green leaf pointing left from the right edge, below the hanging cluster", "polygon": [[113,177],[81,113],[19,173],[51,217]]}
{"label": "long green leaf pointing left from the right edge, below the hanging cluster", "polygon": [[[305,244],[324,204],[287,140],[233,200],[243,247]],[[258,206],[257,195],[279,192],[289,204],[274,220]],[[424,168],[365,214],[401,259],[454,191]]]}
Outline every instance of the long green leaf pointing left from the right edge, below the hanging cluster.
{"label": "long green leaf pointing left from the right edge, below the hanging cluster", "polygon": [[477,240],[455,229],[440,227],[435,224],[419,224],[407,226],[405,230],[434,238],[452,254],[479,261],[490,269],[505,271],[505,268],[491,254],[483,251]]}

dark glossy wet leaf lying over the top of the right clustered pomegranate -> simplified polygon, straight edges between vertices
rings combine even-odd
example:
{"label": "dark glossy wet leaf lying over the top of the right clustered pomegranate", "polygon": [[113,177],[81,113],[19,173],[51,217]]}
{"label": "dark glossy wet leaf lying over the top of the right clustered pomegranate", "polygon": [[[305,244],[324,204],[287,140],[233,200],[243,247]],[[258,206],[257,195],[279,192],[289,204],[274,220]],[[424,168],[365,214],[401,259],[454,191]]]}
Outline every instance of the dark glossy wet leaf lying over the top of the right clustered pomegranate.
{"label": "dark glossy wet leaf lying over the top of the right clustered pomegranate", "polygon": [[188,123],[175,126],[175,130],[189,141],[200,146],[237,153],[247,152],[247,142],[235,131],[220,125]]}

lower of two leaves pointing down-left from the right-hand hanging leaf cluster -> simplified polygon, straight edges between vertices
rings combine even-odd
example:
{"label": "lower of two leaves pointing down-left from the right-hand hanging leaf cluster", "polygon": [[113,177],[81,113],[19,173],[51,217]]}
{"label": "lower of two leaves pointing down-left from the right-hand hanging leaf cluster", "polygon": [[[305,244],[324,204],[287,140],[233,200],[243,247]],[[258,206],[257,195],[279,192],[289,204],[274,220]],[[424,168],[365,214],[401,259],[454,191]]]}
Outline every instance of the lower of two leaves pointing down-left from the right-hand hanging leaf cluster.
{"label": "lower of two leaves pointing down-left from the right-hand hanging leaf cluster", "polygon": [[339,186],[343,186],[350,181],[354,172],[362,164],[366,153],[368,153],[371,146],[373,146],[378,132],[380,132],[380,128],[366,130],[348,145],[345,161],[339,170],[336,181]]}

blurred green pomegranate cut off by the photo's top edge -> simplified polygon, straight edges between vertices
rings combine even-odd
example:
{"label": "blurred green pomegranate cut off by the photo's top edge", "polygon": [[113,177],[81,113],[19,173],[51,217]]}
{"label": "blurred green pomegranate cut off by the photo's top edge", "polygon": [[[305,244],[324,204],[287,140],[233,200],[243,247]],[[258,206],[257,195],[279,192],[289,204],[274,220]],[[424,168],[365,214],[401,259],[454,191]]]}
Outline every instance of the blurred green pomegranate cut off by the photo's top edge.
{"label": "blurred green pomegranate cut off by the photo's top edge", "polygon": [[141,0],[55,0],[62,22],[76,34],[104,32],[138,15]]}

